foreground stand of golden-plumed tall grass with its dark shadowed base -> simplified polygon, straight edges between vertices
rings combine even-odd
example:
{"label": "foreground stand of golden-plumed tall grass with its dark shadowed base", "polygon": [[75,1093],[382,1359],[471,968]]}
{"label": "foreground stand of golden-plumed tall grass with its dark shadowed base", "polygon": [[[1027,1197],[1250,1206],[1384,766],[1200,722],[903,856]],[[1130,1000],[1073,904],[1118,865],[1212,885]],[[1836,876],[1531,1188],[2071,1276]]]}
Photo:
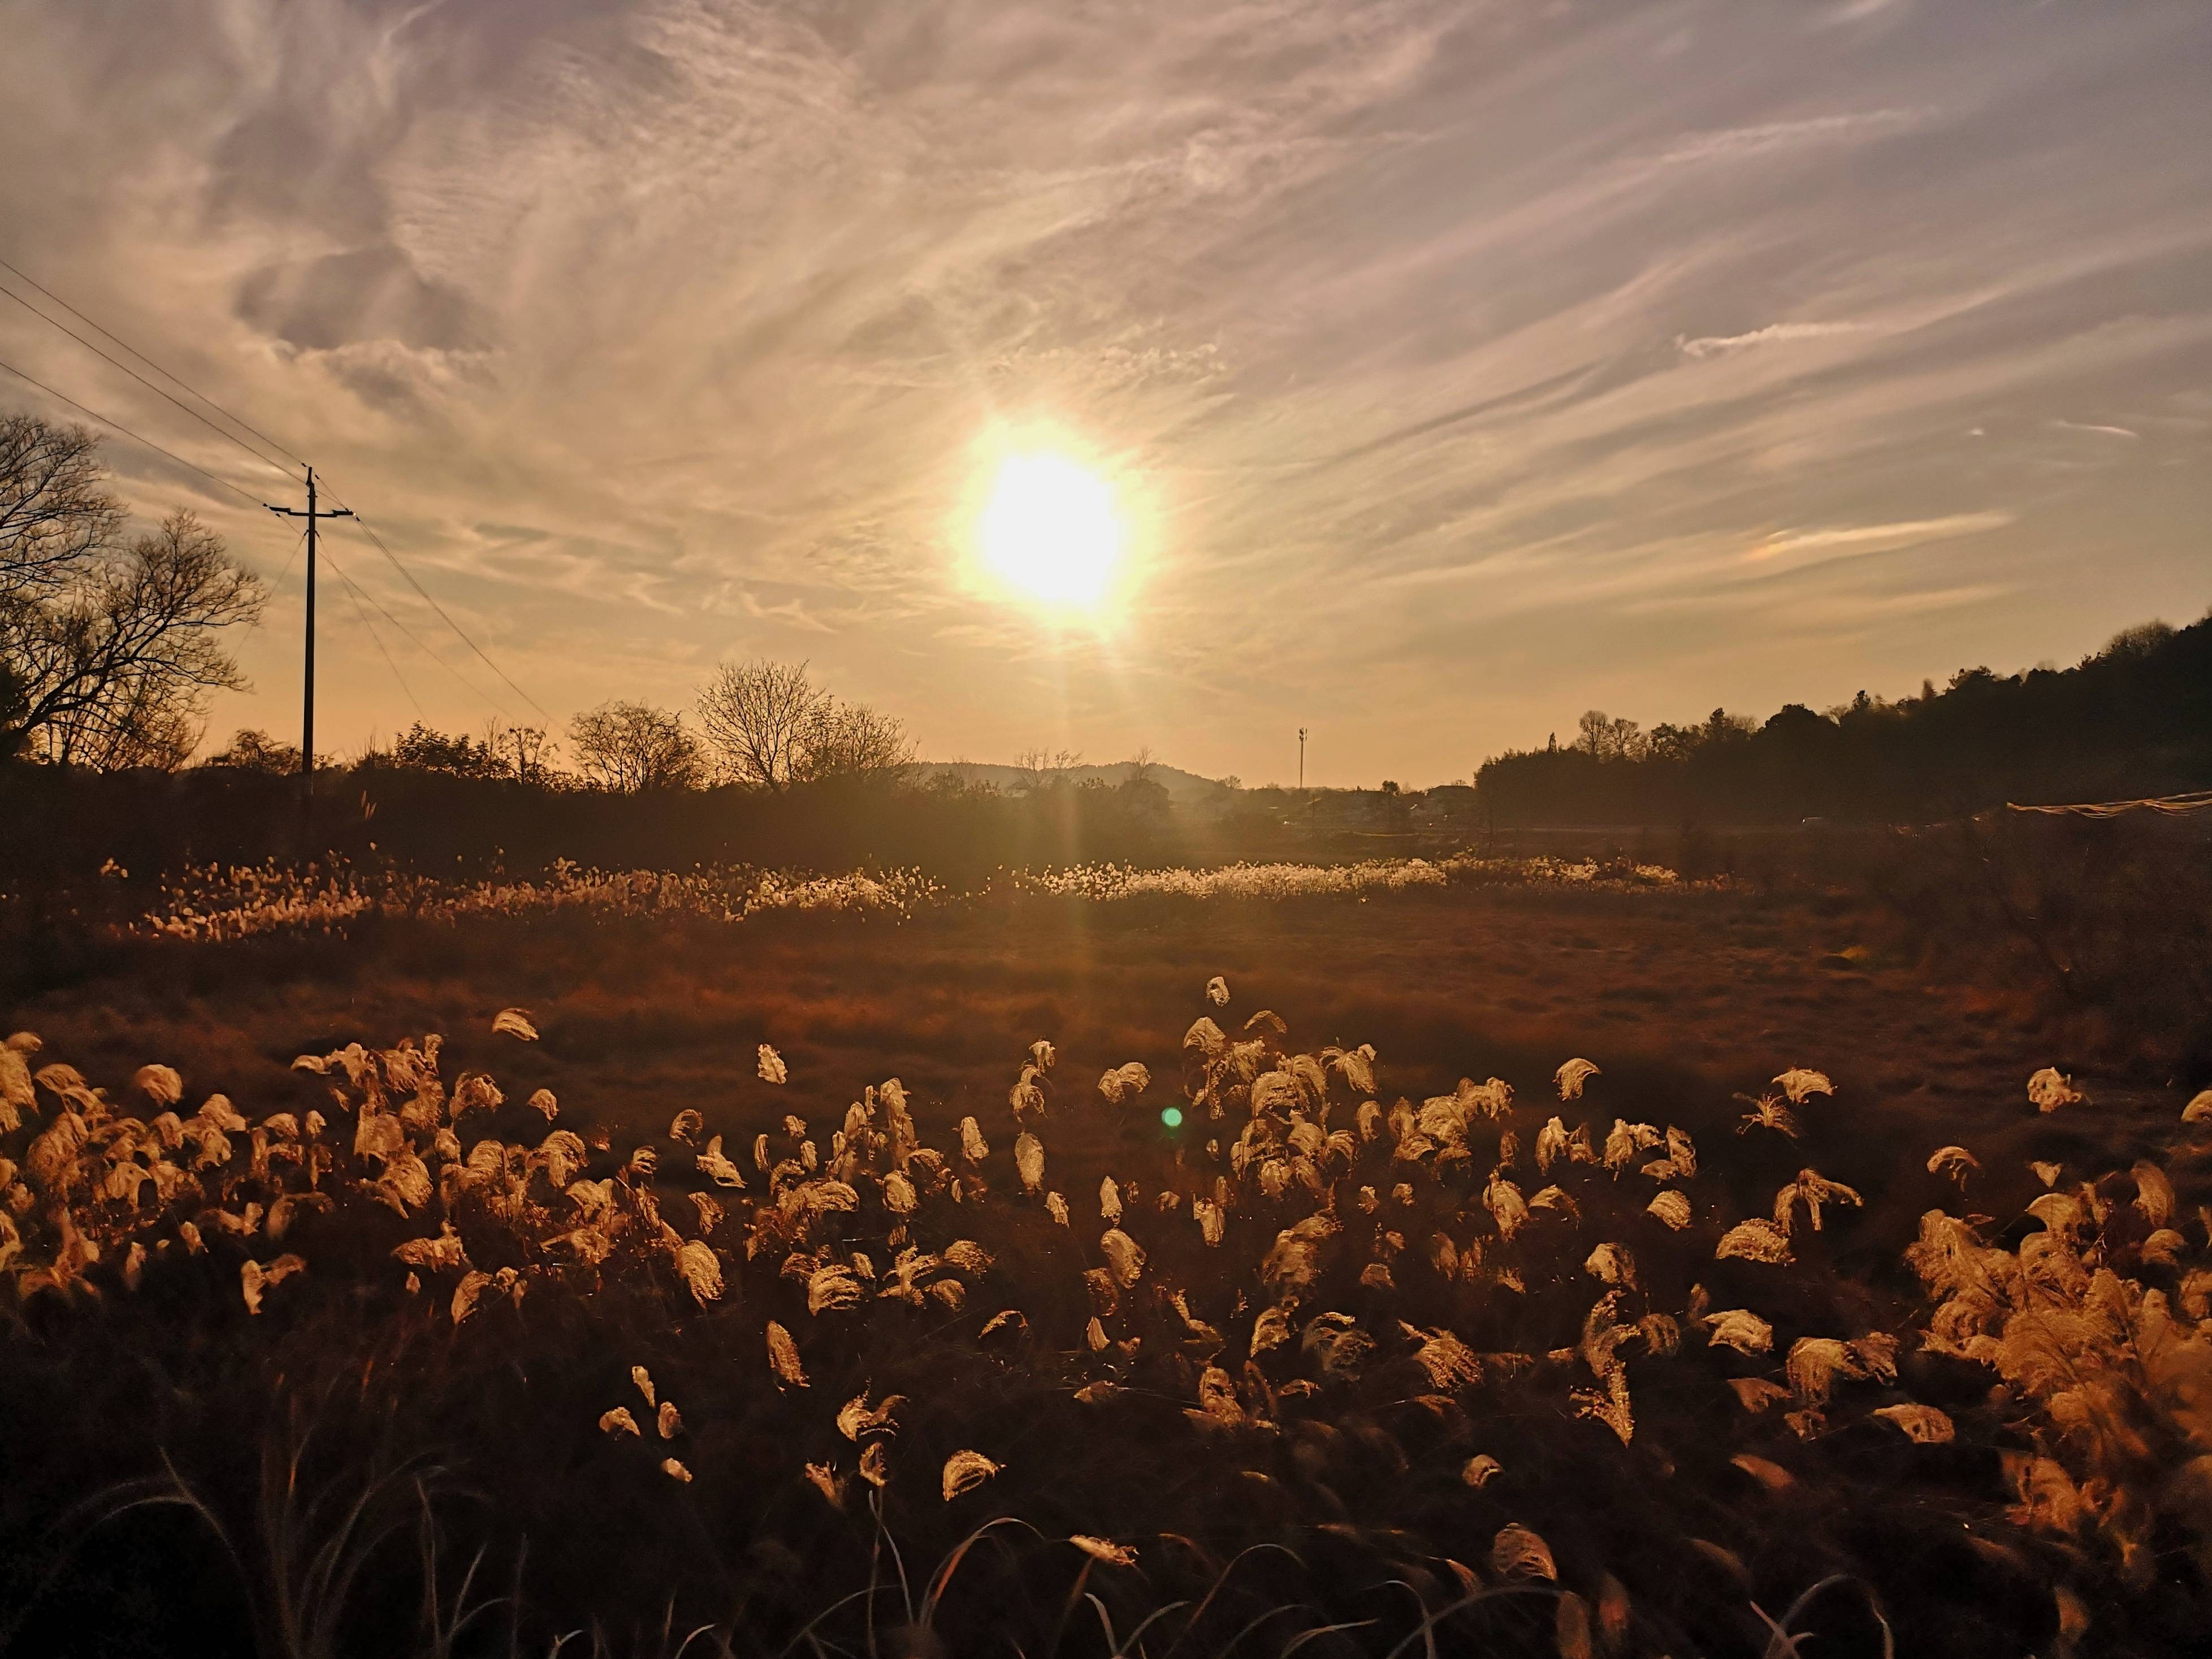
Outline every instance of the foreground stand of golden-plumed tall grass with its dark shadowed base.
{"label": "foreground stand of golden-plumed tall grass with its dark shadowed base", "polygon": [[[1869,1146],[1849,1066],[1652,1121],[1579,1057],[1398,1099],[1367,1046],[1192,1000],[1097,1077],[1009,1033],[1002,1104],[958,1119],[768,1046],[575,1121],[557,1086],[447,1075],[438,1037],[303,1055],[257,1102],[159,1064],[100,1091],[11,1037],[0,1387],[40,1433],[9,1451],[0,1641],[2199,1628],[2212,1097],[2157,1159],[1982,1168]],[[2028,1121],[2093,1110],[2024,1084]]]}

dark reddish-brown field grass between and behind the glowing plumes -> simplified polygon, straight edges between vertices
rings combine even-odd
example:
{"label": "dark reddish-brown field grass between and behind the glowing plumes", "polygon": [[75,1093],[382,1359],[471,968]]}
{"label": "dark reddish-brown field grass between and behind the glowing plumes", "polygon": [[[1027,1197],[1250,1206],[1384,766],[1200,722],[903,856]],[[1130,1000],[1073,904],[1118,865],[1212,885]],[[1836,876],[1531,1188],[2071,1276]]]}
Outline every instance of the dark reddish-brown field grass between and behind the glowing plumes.
{"label": "dark reddish-brown field grass between and behind the glowing plumes", "polygon": [[[2179,1102],[2077,1075],[2090,1102],[2035,1113],[2026,1071],[2066,1055],[2037,1048],[2022,1004],[1847,956],[1854,920],[1725,896],[1451,894],[1110,916],[1026,905],[898,929],[385,929],[146,953],[11,1024],[42,1031],[40,1060],[108,1084],[117,1110],[146,1110],[124,1084],[164,1060],[186,1073],[186,1108],[212,1088],[254,1121],[321,1106],[341,1144],[349,1108],[290,1057],[449,1031],[445,1077],[482,1066],[507,1093],[460,1139],[533,1144],[546,1126],[520,1102],[553,1088],[562,1126],[604,1137],[584,1172],[617,1183],[630,1230],[604,1272],[555,1270],[542,1228],[469,1197],[400,1217],[349,1183],[369,1170],[341,1166],[336,1206],[283,1241],[204,1228],[206,1254],[157,1252],[135,1290],[111,1252],[84,1274],[97,1294],[11,1298],[0,1652],[2017,1655],[2077,1637],[2185,1650],[2205,1610],[2197,1535],[2161,1511],[2166,1531],[2128,1559],[2093,1526],[2028,1526],[2006,1458],[2042,1447],[2048,1422],[1986,1365],[1918,1352],[1929,1298],[1902,1263],[1924,1210],[2013,1217],[2042,1192],[2028,1159],[2064,1164],[2068,1181],[2126,1168],[2170,1144]],[[1217,971],[1237,1015],[1272,1006],[1290,1022],[1283,1053],[1374,1042],[1385,1104],[1460,1075],[1517,1091],[1511,1117],[1471,1135],[1467,1166],[1398,1159],[1391,1137],[1332,1166],[1340,1230],[1287,1298],[1287,1340],[1259,1352],[1261,1314],[1285,1303],[1276,1234],[1316,1197],[1239,1175],[1208,1250],[1188,1197],[1225,1161],[1203,1139],[1232,1139],[1252,1108],[1234,1099],[1212,1124],[1190,1106],[1181,1135],[1157,1117],[1206,1084],[1179,1037],[1212,1011],[1199,987]],[[489,1035],[509,1004],[533,1009],[542,1042]],[[1241,1020],[1223,1024],[1237,1035]],[[1006,1088],[1035,1037],[1062,1051],[1035,1130],[1073,1225],[1013,1170]],[[785,1088],[754,1077],[757,1042],[783,1048]],[[1604,1073],[1562,1106],[1551,1073],[1575,1053]],[[1152,1086],[1110,1106],[1091,1079],[1126,1060]],[[1732,1095],[1787,1064],[1825,1066],[1836,1097],[1798,1110],[1801,1139],[1739,1137]],[[796,1113],[827,1157],[847,1104],[889,1075],[929,1146],[953,1148],[958,1119],[980,1119],[989,1155],[949,1164],[962,1199],[940,1190],[902,1221],[856,1179],[856,1210],[748,1252],[745,1206],[768,1186],[752,1137],[794,1152],[779,1124]],[[1354,1095],[1332,1088],[1329,1126],[1349,1128]],[[728,1137],[745,1194],[706,1183],[670,1139],[684,1108]],[[1679,1181],[1692,1225],[1648,1217],[1657,1183],[1632,1168],[1537,1172],[1553,1110],[1597,1139],[1615,1117],[1686,1128],[1701,1148]],[[1482,1192],[1502,1130],[1522,1188],[1562,1181],[1577,1225],[1500,1237]],[[1982,1161],[1966,1203],[1924,1170],[1947,1141]],[[653,1181],[622,1175],[641,1144],[661,1152]],[[1803,1166],[1865,1206],[1832,1208],[1818,1234],[1801,1217],[1792,1265],[1717,1261],[1725,1228],[1765,1217]],[[1106,1261],[1108,1172],[1135,1186],[1121,1228],[1148,1263],[1102,1296],[1086,1272]],[[2181,1155],[2170,1172],[2185,1212],[2201,1166]],[[1411,1206],[1391,1199],[1398,1179]],[[232,1212],[272,1197],[237,1181],[210,1197]],[[692,1188],[732,1210],[708,1239],[728,1279],[708,1303],[635,1197],[657,1192],[653,1212],[699,1237],[679,1201]],[[1161,1212],[1161,1190],[1186,1203]],[[2106,1190],[2126,1212],[2126,1179]],[[456,1327],[456,1272],[405,1290],[392,1250],[436,1232],[440,1212],[476,1267],[526,1274],[520,1301],[484,1294]],[[175,1241],[175,1219],[164,1228]],[[858,1250],[880,1276],[898,1228],[929,1252],[973,1239],[993,1265],[962,1274],[958,1307],[929,1294],[807,1312],[812,1270]],[[1462,1256],[1486,1252],[1486,1272],[1438,1263],[1438,1232]],[[1575,1400],[1599,1387],[1586,1329],[1606,1292],[1586,1265],[1599,1241],[1635,1254],[1619,1316],[1663,1314],[1681,1338],[1672,1354],[1657,1332],[1624,1349],[1626,1444]],[[2132,1265],[2139,1243],[2115,1261],[2179,1294],[2177,1272]],[[241,1263],[279,1250],[307,1270],[250,1314]],[[1694,1287],[1705,1307],[1767,1318],[1774,1354],[1710,1345]],[[1002,1310],[1024,1318],[987,1336]],[[796,1336],[805,1387],[770,1369],[770,1321]],[[1440,1378],[1420,1358],[1442,1327],[1486,1356],[1480,1376]],[[1840,1380],[1805,1433],[1785,1411],[1807,1400],[1752,1413],[1732,1389],[1778,1378],[1801,1336],[1865,1334],[1898,1338],[1896,1376]],[[666,1440],[639,1365],[681,1411]],[[1194,1416],[1210,1367],[1232,1409]],[[880,1491],[834,1422],[860,1394],[907,1396]],[[1907,1400],[1949,1413],[1955,1440],[1920,1444],[1871,1416]],[[641,1436],[599,1429],[617,1405]],[[1000,1471],[947,1500],[940,1469],[962,1449]],[[690,1480],[664,1473],[670,1455]],[[1482,1455],[1500,1469],[1471,1484]],[[1500,1553],[1513,1526],[1544,1540],[1553,1575]],[[2073,1630],[2079,1610],[2088,1635]]]}

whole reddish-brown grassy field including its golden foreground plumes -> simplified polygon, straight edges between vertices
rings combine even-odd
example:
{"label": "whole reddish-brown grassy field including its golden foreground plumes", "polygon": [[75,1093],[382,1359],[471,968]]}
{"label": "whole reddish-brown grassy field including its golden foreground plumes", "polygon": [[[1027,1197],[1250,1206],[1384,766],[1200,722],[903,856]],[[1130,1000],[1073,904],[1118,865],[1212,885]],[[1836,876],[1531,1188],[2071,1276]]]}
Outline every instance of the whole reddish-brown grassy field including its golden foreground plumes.
{"label": "whole reddish-brown grassy field including its golden foreground plumes", "polygon": [[2174,1652],[2208,1606],[2188,1093],[1854,902],[361,916],[7,1026],[4,1652]]}

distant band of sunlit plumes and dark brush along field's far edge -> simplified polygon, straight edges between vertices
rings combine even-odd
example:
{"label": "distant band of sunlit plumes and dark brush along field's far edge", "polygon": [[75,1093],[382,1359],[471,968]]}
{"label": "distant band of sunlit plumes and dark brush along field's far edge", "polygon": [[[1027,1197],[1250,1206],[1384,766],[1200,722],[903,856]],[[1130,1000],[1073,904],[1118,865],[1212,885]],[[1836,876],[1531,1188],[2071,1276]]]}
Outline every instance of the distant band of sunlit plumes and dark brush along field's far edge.
{"label": "distant band of sunlit plumes and dark brush along field's far edge", "polygon": [[[1102,792],[1113,794],[1113,792]],[[1004,914],[1022,905],[1110,905],[1148,911],[1475,891],[1621,896],[1798,914],[1838,945],[1982,982],[2033,1004],[2046,1040],[2077,1057],[2166,1082],[2212,1082],[2212,814],[2099,821],[1984,814],[1927,832],[1812,830],[1672,845],[1566,841],[1562,852],[1259,858],[1221,865],[1064,860],[945,869],[867,863],[812,869],[757,865],[611,867],[555,860],[542,874],[438,874],[367,849],[310,865],[217,863],[164,874],[111,858],[80,880],[0,880],[0,995],[124,971],[146,945],[241,938],[365,936],[416,929],[425,949],[462,922],[562,925],[737,922],[772,916],[911,920],[929,911]],[[821,849],[816,849],[821,852]],[[540,933],[542,938],[542,933]],[[343,958],[334,958],[343,960]],[[352,960],[363,960],[352,953]],[[425,967],[431,962],[425,960]],[[1847,967],[1849,960],[1843,960]],[[157,964],[219,980],[219,962]],[[327,967],[327,964],[325,964]],[[210,980],[212,975],[212,980]],[[436,1018],[429,1006],[420,1018]],[[1573,1037],[1568,1037],[1573,1040]]]}

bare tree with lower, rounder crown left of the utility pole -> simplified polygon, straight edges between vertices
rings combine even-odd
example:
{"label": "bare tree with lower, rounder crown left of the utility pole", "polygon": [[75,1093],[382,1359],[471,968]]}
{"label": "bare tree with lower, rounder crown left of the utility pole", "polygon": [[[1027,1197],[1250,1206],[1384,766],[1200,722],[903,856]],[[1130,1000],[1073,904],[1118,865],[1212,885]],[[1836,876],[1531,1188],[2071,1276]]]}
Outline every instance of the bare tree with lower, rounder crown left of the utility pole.
{"label": "bare tree with lower, rounder crown left of the utility pole", "polygon": [[73,535],[33,540],[29,568],[0,577],[13,586],[0,659],[18,688],[18,741],[62,763],[181,765],[206,695],[246,688],[217,635],[259,622],[261,577],[190,513],[128,549],[77,538],[69,560],[51,557],[53,538]]}

